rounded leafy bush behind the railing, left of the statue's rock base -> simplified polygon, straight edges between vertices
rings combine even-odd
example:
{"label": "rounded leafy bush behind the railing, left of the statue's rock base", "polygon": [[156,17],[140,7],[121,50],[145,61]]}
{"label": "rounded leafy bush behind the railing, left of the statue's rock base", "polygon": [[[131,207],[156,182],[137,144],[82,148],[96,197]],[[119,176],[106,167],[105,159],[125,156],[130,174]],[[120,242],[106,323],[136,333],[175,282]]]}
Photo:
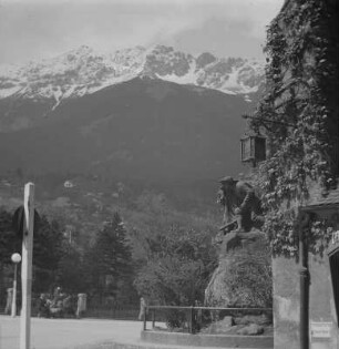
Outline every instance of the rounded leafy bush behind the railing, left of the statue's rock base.
{"label": "rounded leafy bush behind the railing, left of the statue's rock base", "polygon": [[193,305],[216,267],[209,232],[171,226],[147,239],[146,265],[137,274],[138,292],[163,305]]}

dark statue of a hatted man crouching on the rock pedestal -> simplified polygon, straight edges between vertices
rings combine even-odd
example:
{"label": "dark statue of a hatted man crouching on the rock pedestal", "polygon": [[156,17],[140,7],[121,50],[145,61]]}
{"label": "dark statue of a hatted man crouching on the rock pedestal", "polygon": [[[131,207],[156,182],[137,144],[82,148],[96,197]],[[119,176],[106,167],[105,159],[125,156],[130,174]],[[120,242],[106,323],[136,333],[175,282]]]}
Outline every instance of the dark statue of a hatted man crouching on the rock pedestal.
{"label": "dark statue of a hatted man crouching on the rock pedestal", "polygon": [[[224,206],[220,230],[249,232],[264,224],[260,199],[250,184],[226,176],[219,181],[218,203]],[[236,227],[237,226],[237,227]]]}

